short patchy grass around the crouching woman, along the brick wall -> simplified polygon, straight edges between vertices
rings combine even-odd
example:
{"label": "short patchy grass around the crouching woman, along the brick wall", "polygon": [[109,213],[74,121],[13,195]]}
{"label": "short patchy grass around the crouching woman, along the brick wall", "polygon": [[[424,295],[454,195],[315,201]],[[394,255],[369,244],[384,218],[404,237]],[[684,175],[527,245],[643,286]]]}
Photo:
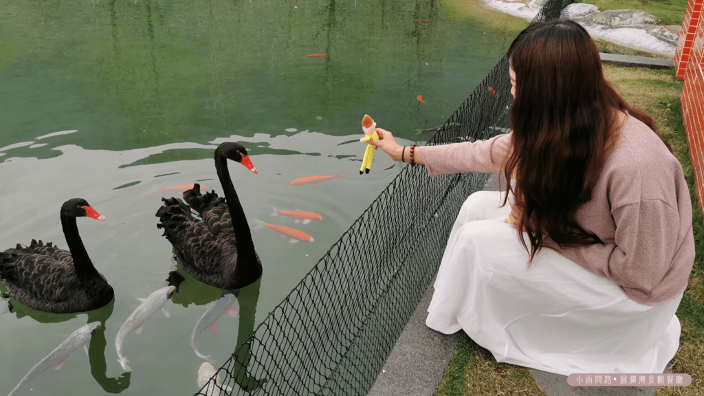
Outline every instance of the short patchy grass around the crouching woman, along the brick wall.
{"label": "short patchy grass around the crouching woman, along the brick wall", "polygon": [[[653,1],[653,0],[649,0]],[[689,184],[693,206],[693,230],[696,259],[689,286],[677,310],[682,333],[680,347],[672,359],[673,373],[688,373],[692,384],[687,387],[657,388],[656,396],[704,395],[704,217],[698,209],[694,177],[681,113],[679,96],[682,82],[674,77],[674,68],[653,70],[604,65],[604,73],[630,104],[645,110],[658,125],[660,135],[677,156]],[[528,369],[496,363],[486,349],[479,347],[463,333],[446,368],[437,396],[459,395],[523,395],[544,396]]]}

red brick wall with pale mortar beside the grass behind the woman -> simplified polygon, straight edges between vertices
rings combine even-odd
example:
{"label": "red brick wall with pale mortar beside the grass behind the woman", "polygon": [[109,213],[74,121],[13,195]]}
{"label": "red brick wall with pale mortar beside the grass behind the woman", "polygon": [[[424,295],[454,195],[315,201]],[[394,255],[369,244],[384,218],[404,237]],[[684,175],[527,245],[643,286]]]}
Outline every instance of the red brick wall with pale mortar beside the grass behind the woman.
{"label": "red brick wall with pale mortar beside the grass behind the woman", "polygon": [[[692,21],[696,13],[701,14],[702,12],[696,11],[697,8],[695,7],[691,7],[692,4],[697,2],[699,5],[698,9],[701,10],[703,1],[689,0],[687,12],[689,13],[689,9],[693,8]],[[686,22],[687,20],[685,19],[685,24]],[[704,210],[702,206],[702,199],[704,198],[704,73],[702,70],[704,68],[704,18],[697,18],[696,22],[696,25],[687,27],[687,32],[692,32],[692,38],[686,40],[691,47],[686,66],[682,68],[684,86],[682,87],[681,101],[684,127],[687,132],[687,140],[689,141],[689,156],[694,171],[696,194],[699,197],[700,209]],[[681,37],[682,35],[680,35],[680,41]],[[682,57],[684,58],[684,55]]]}

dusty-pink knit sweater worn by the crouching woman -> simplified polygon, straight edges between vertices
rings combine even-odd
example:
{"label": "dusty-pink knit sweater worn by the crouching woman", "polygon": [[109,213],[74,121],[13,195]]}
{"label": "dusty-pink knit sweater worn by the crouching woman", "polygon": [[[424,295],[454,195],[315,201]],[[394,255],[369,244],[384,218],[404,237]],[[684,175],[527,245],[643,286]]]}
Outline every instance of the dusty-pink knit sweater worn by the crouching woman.
{"label": "dusty-pink knit sweater worn by the crouching woman", "polygon": [[[509,151],[510,134],[416,148],[431,176],[499,172]],[[624,124],[577,221],[603,244],[561,249],[548,240],[546,246],[609,278],[640,304],[665,304],[684,292],[694,264],[689,188],[679,161],[637,118]]]}

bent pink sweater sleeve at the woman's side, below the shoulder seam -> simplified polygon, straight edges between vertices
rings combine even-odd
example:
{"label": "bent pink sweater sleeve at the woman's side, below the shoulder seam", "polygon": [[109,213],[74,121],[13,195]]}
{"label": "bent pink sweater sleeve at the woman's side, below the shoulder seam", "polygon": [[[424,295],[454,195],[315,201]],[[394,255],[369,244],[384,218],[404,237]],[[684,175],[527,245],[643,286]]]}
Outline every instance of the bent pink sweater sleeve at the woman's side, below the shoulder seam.
{"label": "bent pink sweater sleeve at the woman's side, below the shoulder seam", "polygon": [[606,277],[636,302],[646,302],[667,271],[677,249],[679,215],[659,199],[643,199],[612,210],[615,248]]}

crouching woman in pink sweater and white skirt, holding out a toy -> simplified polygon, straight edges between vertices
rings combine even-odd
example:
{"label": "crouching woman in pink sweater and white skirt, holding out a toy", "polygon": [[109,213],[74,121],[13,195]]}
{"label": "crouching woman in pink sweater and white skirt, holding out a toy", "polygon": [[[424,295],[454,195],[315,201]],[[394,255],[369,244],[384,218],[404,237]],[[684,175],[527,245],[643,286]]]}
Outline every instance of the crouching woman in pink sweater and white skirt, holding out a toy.
{"label": "crouching woman in pink sweater and white skirt, holding out a toy", "polygon": [[429,175],[510,175],[508,194],[476,192],[460,209],[427,326],[552,373],[662,373],[694,261],[681,165],[604,80],[579,24],[531,25],[507,57],[510,133],[408,148],[377,129],[370,140]]}

